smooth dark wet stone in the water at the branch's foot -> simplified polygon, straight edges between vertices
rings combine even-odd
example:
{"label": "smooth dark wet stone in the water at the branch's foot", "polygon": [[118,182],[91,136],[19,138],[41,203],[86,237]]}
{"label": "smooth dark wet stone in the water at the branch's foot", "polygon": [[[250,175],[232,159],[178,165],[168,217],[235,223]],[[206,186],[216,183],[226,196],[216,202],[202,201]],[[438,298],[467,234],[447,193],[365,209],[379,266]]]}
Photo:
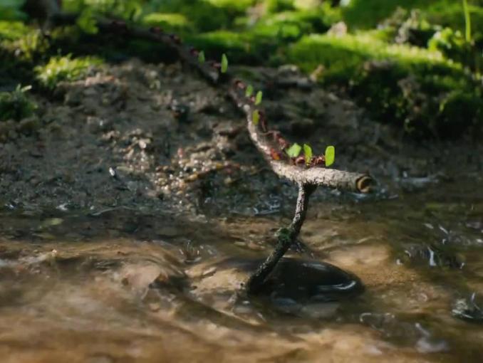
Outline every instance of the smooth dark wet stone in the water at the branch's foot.
{"label": "smooth dark wet stone in the water at the branch's foot", "polygon": [[363,292],[359,278],[330,263],[282,258],[261,287],[271,300],[333,302]]}

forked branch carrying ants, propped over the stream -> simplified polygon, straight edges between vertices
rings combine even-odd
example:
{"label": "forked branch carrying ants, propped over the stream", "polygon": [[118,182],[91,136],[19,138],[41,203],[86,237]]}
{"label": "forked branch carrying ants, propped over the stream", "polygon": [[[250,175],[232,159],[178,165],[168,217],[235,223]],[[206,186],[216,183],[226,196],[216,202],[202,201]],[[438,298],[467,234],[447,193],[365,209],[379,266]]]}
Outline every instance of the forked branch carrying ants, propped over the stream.
{"label": "forked branch carrying ants, propped over the stream", "polygon": [[[55,23],[75,23],[76,16],[71,14],[55,14],[52,17]],[[124,21],[98,19],[98,29],[101,33],[115,33],[123,37],[141,38],[150,41],[165,43],[175,50],[182,61],[196,68],[199,73],[216,85],[223,93],[229,95],[235,105],[246,115],[246,122],[249,135],[254,145],[263,155],[271,169],[279,175],[298,184],[298,199],[294,219],[288,228],[281,228],[278,241],[274,251],[266,258],[256,272],[251,275],[246,283],[249,292],[256,293],[276,263],[284,256],[292,243],[296,241],[301,231],[303,221],[308,209],[308,200],[317,186],[326,186],[346,191],[368,193],[373,186],[373,179],[368,174],[345,172],[336,169],[323,167],[320,160],[323,157],[316,157],[313,160],[298,162],[287,156],[286,149],[290,146],[280,132],[268,129],[267,116],[264,110],[256,105],[251,95],[246,95],[246,85],[240,80],[220,73],[219,63],[200,62],[198,51],[192,47],[182,44],[180,38],[174,34],[168,34],[157,27],[149,29],[129,26]],[[276,136],[270,137],[269,135]]]}

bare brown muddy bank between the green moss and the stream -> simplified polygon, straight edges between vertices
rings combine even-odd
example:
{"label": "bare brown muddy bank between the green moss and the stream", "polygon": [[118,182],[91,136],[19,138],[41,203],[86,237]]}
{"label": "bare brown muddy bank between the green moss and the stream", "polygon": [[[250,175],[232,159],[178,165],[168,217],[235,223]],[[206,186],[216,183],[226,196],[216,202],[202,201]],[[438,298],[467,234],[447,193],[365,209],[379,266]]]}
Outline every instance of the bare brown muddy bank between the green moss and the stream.
{"label": "bare brown muddy bank between the green moss and the stream", "polygon": [[[350,100],[320,88],[270,88],[264,75],[273,80],[276,70],[238,71],[265,90],[279,130],[316,151],[336,145],[336,167],[369,171],[387,194],[457,183],[483,167],[478,144],[403,140]],[[294,195],[256,153],[224,95],[179,64],[98,66],[36,101],[38,127],[2,135],[1,199],[11,207],[269,214]]]}

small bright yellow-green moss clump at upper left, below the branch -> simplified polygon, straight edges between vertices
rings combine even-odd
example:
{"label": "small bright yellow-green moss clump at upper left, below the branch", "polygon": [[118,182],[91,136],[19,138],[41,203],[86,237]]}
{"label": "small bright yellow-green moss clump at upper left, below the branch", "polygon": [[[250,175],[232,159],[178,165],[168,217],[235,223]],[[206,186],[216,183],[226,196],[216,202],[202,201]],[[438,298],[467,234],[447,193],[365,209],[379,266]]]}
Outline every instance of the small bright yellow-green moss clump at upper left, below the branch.
{"label": "small bright yellow-green moss clump at upper left, below the branch", "polygon": [[99,58],[83,57],[72,58],[71,56],[52,57],[46,65],[38,65],[34,68],[38,82],[45,88],[53,90],[56,85],[63,81],[78,80],[101,63]]}

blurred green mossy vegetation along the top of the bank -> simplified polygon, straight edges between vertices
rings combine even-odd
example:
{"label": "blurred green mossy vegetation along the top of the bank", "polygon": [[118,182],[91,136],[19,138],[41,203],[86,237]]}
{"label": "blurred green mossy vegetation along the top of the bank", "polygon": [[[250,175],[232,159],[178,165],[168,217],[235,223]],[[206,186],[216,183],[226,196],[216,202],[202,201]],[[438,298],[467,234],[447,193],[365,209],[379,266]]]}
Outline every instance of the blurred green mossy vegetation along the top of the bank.
{"label": "blurred green mossy vegetation along the top of the bank", "polygon": [[466,18],[463,0],[63,0],[83,20],[48,38],[26,3],[0,4],[0,88],[53,90],[102,60],[175,60],[161,45],[86,33],[102,14],[160,26],[230,64],[298,65],[415,137],[481,130],[483,0],[467,0]]}

